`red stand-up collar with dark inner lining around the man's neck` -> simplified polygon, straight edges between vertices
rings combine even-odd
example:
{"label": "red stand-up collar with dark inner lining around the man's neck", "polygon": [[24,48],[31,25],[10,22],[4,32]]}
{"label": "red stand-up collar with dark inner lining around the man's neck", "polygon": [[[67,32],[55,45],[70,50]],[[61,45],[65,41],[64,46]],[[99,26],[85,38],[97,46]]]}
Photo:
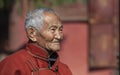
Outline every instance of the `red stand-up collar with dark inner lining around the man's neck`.
{"label": "red stand-up collar with dark inner lining around the man's neck", "polygon": [[36,46],[33,43],[28,43],[26,45],[26,50],[28,51],[28,53],[34,57],[37,58],[45,58],[45,60],[47,61],[55,61],[58,58],[58,54],[57,52],[53,52],[51,53],[51,55],[48,54],[47,51],[41,49],[39,46]]}

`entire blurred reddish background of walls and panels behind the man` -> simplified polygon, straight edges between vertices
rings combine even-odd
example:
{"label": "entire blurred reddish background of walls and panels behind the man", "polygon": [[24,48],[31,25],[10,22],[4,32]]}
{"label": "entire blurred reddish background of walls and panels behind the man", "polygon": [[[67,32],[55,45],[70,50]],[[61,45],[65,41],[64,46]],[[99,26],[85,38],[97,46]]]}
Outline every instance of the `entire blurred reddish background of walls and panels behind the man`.
{"label": "entire blurred reddish background of walls and panels behind the man", "polygon": [[73,75],[119,74],[119,0],[0,0],[0,61],[27,43],[26,13],[40,7],[61,17],[59,54]]}

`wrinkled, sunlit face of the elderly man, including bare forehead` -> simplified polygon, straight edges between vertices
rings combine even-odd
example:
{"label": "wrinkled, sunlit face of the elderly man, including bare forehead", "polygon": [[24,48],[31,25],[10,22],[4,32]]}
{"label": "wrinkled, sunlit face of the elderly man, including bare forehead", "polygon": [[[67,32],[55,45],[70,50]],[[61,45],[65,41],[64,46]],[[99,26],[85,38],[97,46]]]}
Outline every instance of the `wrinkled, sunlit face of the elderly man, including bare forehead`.
{"label": "wrinkled, sunlit face of the elderly man, including bare forehead", "polygon": [[58,51],[63,39],[63,25],[58,16],[45,13],[44,25],[38,32],[37,43],[44,49]]}

